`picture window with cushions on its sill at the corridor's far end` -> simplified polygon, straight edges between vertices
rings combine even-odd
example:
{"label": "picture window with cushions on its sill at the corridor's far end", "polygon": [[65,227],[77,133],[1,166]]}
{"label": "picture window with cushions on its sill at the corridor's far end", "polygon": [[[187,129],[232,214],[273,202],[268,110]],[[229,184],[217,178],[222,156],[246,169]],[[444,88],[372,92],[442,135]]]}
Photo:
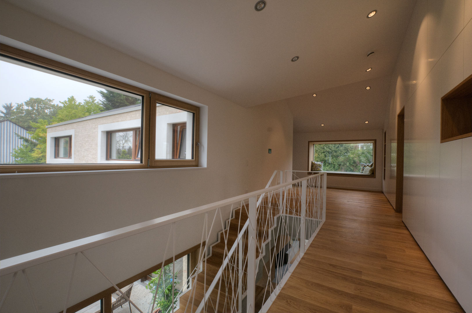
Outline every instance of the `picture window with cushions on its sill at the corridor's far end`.
{"label": "picture window with cushions on its sill at the corridor's far end", "polygon": [[309,141],[309,171],[375,177],[376,140]]}

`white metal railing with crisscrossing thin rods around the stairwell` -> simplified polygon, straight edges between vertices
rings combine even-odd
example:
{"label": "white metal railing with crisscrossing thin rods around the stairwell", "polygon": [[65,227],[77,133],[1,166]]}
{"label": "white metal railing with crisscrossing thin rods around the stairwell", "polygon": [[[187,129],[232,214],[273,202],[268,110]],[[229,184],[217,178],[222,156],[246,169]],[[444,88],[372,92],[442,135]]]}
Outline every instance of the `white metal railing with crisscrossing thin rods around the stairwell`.
{"label": "white metal railing with crisscrossing thin rods around the stairwell", "polygon": [[118,257],[113,248],[123,241],[128,249],[136,242],[150,247],[149,264],[175,261],[200,241],[191,288],[169,312],[265,312],[325,219],[326,173],[285,183],[283,176],[275,171],[265,189],[242,196],[1,260],[0,312],[66,313],[110,286],[138,312],[152,312],[157,289],[150,307],[136,305],[118,288],[119,271],[105,262]]}

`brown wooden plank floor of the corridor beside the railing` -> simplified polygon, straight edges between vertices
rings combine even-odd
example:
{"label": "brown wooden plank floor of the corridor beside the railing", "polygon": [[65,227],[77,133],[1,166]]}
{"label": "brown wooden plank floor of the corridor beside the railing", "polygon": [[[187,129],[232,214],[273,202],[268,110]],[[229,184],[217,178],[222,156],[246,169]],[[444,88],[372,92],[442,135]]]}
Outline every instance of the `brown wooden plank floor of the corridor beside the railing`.
{"label": "brown wooden plank floor of the corridor beside the railing", "polygon": [[383,193],[328,189],[326,208],[268,312],[464,312]]}

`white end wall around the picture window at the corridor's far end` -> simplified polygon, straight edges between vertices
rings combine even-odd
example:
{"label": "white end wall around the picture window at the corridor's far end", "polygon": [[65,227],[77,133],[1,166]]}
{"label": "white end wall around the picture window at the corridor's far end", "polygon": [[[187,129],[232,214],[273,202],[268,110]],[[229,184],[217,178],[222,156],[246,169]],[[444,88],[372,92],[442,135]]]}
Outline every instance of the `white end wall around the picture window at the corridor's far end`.
{"label": "white end wall around the picture window at the corridor's far end", "polygon": [[373,131],[349,131],[349,132],[310,132],[294,133],[293,146],[293,169],[296,171],[306,171],[308,164],[308,141],[320,140],[377,140],[376,142],[376,166],[375,178],[371,177],[344,177],[328,176],[328,187],[361,189],[361,190],[382,190],[382,163],[383,163],[383,133],[381,130]]}

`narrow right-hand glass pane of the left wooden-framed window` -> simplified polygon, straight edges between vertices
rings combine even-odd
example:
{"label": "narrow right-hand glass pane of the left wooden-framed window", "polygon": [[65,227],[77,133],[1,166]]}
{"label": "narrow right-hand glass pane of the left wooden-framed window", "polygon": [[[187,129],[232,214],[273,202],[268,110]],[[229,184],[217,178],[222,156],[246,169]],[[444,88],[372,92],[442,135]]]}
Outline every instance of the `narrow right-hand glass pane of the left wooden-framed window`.
{"label": "narrow right-hand glass pane of the left wooden-framed window", "polygon": [[158,103],[156,159],[194,158],[194,113]]}

